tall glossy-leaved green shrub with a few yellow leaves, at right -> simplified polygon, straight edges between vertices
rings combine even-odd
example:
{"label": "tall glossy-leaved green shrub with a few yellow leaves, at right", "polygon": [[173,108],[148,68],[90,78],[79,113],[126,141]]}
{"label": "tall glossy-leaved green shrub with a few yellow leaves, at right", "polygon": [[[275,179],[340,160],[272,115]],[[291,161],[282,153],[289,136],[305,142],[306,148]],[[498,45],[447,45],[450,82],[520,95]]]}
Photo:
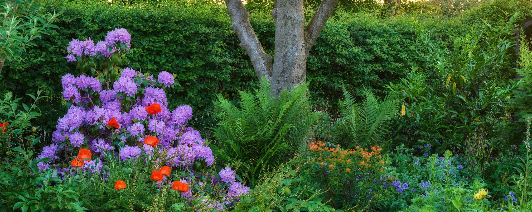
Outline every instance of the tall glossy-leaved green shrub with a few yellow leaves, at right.
{"label": "tall glossy-leaved green shrub with a few yellow leaves, at right", "polygon": [[405,97],[406,107],[390,138],[410,146],[430,143],[443,152],[461,147],[464,135],[473,130],[484,128],[491,138],[498,135],[504,105],[518,83],[500,86],[492,73],[509,61],[506,52],[512,44],[504,35],[517,16],[507,16],[505,26],[472,27],[467,35],[451,36],[446,43],[431,39],[431,30],[415,24],[427,66],[413,69],[403,83],[388,86]]}

